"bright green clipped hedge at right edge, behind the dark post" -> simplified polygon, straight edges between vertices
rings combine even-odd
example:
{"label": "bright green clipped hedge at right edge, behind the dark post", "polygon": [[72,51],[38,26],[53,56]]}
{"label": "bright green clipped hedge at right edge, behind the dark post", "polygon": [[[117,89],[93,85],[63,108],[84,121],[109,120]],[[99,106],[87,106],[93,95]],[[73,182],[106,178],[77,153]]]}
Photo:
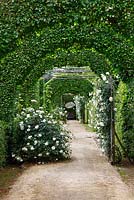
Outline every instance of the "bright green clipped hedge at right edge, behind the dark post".
{"label": "bright green clipped hedge at right edge, behind the dark post", "polygon": [[120,82],[116,95],[116,132],[134,159],[134,79]]}

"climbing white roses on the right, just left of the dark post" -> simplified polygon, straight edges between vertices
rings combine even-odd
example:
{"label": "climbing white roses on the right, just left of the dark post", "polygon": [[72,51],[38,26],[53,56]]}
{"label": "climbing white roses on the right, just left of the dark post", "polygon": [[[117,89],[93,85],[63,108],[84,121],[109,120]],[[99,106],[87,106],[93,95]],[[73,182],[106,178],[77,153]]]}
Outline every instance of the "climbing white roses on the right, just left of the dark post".
{"label": "climbing white roses on the right, just left of the dark post", "polygon": [[89,127],[96,130],[102,151],[107,156],[110,156],[111,103],[113,101],[113,96],[111,96],[112,83],[108,72],[105,75],[102,74],[101,77],[102,79],[99,79],[96,83],[94,92],[90,94],[92,99],[88,103],[88,123]]}

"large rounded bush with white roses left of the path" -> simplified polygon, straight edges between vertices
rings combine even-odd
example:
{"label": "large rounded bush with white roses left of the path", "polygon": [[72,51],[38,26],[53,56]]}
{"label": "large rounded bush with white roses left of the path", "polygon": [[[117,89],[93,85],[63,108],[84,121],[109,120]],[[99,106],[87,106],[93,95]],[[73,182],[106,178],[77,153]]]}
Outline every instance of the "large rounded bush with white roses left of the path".
{"label": "large rounded bush with white roses left of the path", "polygon": [[13,134],[12,157],[18,162],[67,159],[70,134],[62,123],[46,115],[43,108],[26,108],[17,115]]}

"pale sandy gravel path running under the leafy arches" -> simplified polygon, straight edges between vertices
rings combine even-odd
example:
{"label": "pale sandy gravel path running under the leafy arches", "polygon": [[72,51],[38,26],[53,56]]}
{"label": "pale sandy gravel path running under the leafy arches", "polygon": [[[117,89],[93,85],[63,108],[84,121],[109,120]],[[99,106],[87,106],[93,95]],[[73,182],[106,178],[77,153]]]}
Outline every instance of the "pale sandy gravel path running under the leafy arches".
{"label": "pale sandy gravel path running under the leafy arches", "polygon": [[71,161],[27,169],[4,200],[132,200],[129,189],[89,133],[69,121],[74,134]]}

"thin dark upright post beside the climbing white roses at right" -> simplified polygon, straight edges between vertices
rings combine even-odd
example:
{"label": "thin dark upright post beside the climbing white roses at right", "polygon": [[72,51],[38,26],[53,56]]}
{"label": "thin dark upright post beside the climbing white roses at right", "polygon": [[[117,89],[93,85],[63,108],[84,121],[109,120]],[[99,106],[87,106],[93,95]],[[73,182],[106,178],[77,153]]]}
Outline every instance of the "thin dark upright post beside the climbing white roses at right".
{"label": "thin dark upright post beside the climbing white roses at right", "polygon": [[110,140],[111,140],[111,149],[110,149],[110,160],[111,164],[115,164],[115,119],[114,119],[114,85],[113,79],[110,77],[110,92],[111,99],[110,101]]}

